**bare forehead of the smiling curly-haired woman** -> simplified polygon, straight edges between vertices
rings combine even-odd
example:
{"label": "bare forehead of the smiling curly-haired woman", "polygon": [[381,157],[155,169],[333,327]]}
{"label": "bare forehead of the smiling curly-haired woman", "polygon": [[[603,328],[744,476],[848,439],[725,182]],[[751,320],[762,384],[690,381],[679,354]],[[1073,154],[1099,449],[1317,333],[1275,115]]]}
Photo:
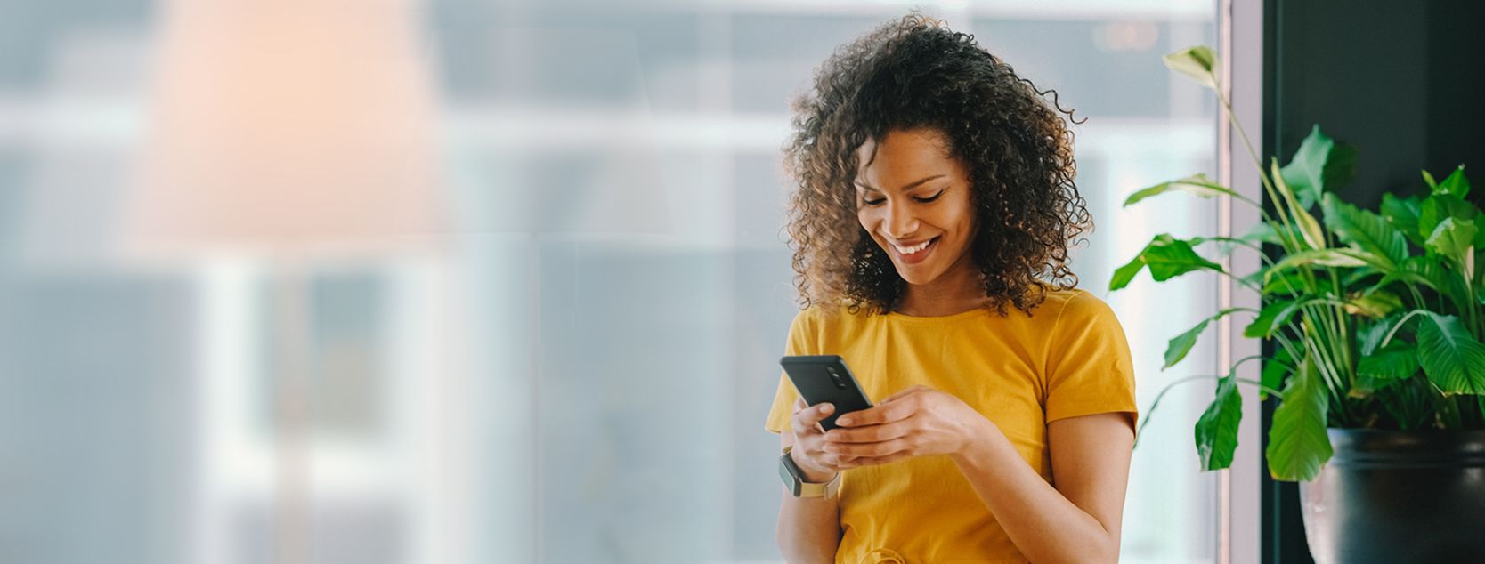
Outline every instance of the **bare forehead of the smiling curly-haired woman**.
{"label": "bare forehead of the smiling curly-haired woman", "polygon": [[956,172],[961,172],[961,165],[950,156],[949,141],[934,129],[894,129],[857,148],[857,177],[873,187],[895,187],[892,180],[912,181]]}

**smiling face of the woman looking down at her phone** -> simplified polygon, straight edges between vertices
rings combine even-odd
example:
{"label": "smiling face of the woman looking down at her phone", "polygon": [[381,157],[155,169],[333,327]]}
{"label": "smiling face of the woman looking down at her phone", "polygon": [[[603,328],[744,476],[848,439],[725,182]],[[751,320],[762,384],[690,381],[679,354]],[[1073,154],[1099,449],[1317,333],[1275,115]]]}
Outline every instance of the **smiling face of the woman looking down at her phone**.
{"label": "smiling face of the woman looking down at her phone", "polygon": [[912,285],[974,279],[970,178],[934,129],[895,129],[857,150],[857,218]]}

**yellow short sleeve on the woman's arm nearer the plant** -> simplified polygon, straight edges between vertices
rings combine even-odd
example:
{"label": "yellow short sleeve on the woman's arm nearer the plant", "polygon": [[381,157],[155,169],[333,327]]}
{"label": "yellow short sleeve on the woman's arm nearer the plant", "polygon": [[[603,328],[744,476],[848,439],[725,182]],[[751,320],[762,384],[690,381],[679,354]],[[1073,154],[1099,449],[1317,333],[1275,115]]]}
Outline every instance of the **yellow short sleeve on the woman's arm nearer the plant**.
{"label": "yellow short sleeve on the woman's arm nearer the plant", "polygon": [[1114,310],[1086,291],[1063,306],[1047,347],[1047,423],[1097,413],[1136,414],[1135,368]]}

